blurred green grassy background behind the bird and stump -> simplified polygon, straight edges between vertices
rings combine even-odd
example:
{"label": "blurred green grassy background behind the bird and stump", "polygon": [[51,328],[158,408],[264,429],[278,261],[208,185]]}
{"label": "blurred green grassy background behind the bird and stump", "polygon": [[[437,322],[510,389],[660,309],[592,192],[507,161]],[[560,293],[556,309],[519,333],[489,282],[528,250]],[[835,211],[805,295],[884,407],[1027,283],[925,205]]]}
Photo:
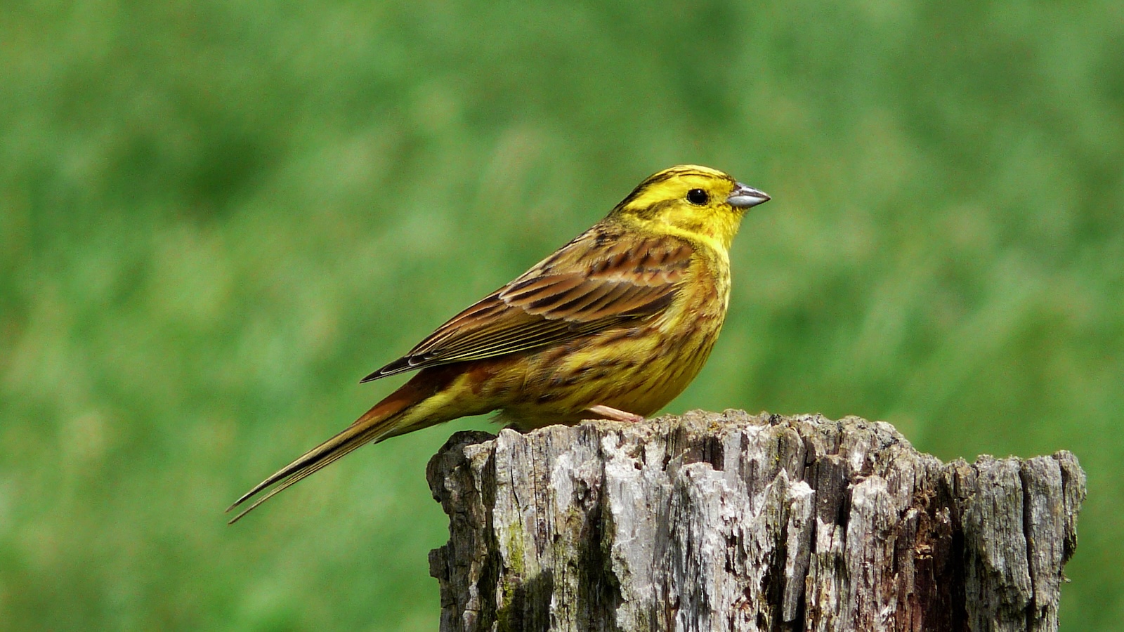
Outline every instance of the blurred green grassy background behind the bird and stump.
{"label": "blurred green grassy background behind the bird and stump", "polygon": [[680,162],[773,196],[670,412],[1077,453],[1124,620],[1124,4],[0,6],[0,628],[434,630],[425,463],[242,491],[356,380]]}

